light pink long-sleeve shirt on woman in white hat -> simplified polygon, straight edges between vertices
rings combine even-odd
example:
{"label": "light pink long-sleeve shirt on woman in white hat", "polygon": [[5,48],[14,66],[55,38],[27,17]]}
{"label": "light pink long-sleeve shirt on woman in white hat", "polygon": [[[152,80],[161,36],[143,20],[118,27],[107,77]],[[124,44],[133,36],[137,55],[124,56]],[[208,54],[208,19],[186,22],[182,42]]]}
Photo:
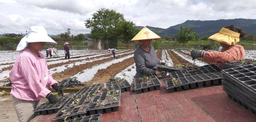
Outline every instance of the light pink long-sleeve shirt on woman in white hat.
{"label": "light pink long-sleeve shirt on woman in white hat", "polygon": [[44,55],[35,56],[28,48],[20,52],[10,71],[11,95],[21,100],[36,101],[45,98],[52,85],[58,83],[48,70]]}

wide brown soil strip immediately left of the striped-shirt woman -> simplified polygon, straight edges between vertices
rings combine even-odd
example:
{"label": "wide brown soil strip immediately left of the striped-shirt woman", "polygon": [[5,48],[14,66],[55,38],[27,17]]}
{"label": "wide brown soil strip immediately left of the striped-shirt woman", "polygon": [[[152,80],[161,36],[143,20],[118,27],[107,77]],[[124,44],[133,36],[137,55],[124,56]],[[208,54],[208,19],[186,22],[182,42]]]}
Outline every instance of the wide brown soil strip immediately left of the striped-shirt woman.
{"label": "wide brown soil strip immediately left of the striped-shirt woman", "polygon": [[[88,81],[89,83],[104,83],[108,81],[111,77],[116,76],[116,74],[120,73],[122,70],[127,68],[128,66],[134,64],[134,57],[123,60],[122,62],[118,62],[116,64],[112,64],[108,66],[106,69],[100,69],[94,75],[92,80]],[[124,74],[125,75],[125,74]]]}

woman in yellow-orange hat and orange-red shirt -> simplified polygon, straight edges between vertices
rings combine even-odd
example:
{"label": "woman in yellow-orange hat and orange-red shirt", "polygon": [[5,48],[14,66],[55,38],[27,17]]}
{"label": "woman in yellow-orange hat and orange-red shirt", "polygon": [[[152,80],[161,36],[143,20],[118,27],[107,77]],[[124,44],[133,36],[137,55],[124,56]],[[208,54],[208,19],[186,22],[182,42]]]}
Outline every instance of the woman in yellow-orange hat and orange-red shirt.
{"label": "woman in yellow-orange hat and orange-red shirt", "polygon": [[244,48],[241,45],[236,45],[239,42],[239,37],[243,37],[245,32],[240,27],[233,25],[224,27],[220,32],[213,34],[208,39],[220,42],[222,50],[220,52],[204,52],[202,50],[192,50],[192,58],[204,58],[209,62],[214,62],[222,68],[223,62],[243,60],[245,58]]}

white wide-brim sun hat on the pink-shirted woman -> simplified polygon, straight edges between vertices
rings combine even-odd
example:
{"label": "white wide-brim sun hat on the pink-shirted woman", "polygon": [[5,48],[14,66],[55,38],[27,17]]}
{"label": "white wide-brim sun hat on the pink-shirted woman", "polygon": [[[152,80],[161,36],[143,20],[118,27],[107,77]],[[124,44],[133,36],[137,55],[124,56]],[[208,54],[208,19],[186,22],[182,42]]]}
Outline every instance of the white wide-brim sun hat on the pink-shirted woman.
{"label": "white wide-brim sun hat on the pink-shirted woman", "polygon": [[23,50],[28,46],[28,43],[30,42],[46,42],[46,44],[51,45],[58,44],[48,36],[43,26],[31,26],[27,31],[27,35],[20,40],[16,51]]}

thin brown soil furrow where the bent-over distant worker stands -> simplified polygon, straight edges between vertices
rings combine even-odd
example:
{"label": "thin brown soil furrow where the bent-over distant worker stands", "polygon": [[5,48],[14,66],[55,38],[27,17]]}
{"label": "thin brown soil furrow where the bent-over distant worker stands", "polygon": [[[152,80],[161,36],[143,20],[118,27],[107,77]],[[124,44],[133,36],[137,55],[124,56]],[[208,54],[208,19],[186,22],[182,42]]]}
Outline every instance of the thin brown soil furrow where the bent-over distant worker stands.
{"label": "thin brown soil furrow where the bent-over distant worker stands", "polygon": [[[121,52],[121,53],[126,53],[126,52],[130,52],[130,51],[131,50],[127,50],[127,51]],[[120,54],[120,52],[119,53],[117,52],[116,54]],[[92,54],[92,55],[95,55],[95,54]],[[90,55],[90,56],[92,56],[92,55]],[[57,63],[57,64],[50,64],[50,65],[48,65],[48,69],[58,67],[58,66],[62,66],[62,65],[66,65],[66,64],[71,64],[71,63],[74,63],[74,62],[80,62],[80,61],[83,61],[83,60],[101,58],[101,57],[105,57],[105,56],[109,56],[109,54],[105,54],[105,55],[102,55],[102,56],[91,57],[91,58],[86,58],[86,59],[69,60],[68,62],[61,62],[61,63]]]}

